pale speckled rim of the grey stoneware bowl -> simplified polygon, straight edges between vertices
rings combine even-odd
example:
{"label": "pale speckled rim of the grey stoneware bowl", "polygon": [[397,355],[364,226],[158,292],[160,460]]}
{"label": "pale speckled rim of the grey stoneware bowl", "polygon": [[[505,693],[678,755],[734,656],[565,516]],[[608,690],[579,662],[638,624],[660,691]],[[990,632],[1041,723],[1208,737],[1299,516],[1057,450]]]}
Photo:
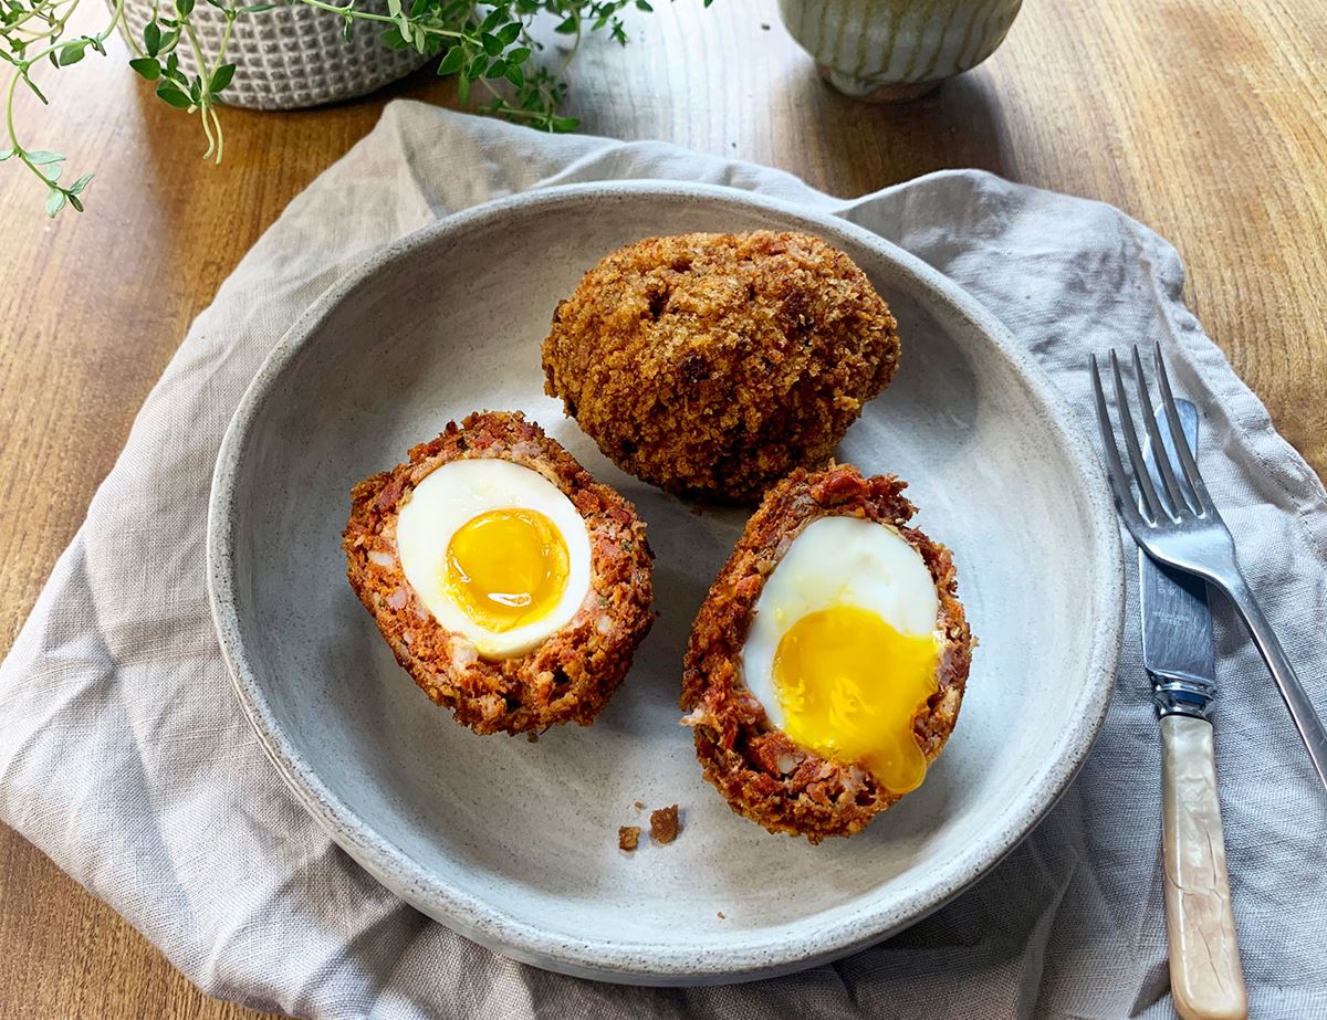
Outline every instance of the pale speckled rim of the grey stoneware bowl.
{"label": "pale speckled rim of the grey stoneware bowl", "polygon": [[[943,305],[967,320],[978,333],[1022,375],[1034,399],[1040,401],[1046,426],[1055,432],[1070,462],[1078,470],[1074,479],[1091,511],[1087,523],[1091,553],[1099,566],[1101,589],[1092,633],[1087,676],[1075,711],[1064,719],[1059,740],[1046,756],[1043,769],[1028,785],[1024,812],[1010,810],[1009,822],[977,849],[955,861],[938,865],[926,881],[892,905],[868,901],[855,913],[820,926],[811,938],[795,936],[798,923],[779,931],[734,938],[722,950],[697,950],[648,942],[617,942],[610,938],[569,939],[552,935],[535,924],[495,909],[479,897],[450,885],[429,871],[385,836],[364,824],[350,808],[304,761],[299,749],[276,723],[263,694],[243,641],[240,610],[235,600],[235,536],[232,532],[235,480],[240,455],[253,420],[272,383],[287,363],[314,336],[336,308],[372,277],[419,249],[442,243],[447,235],[483,229],[515,212],[587,202],[605,195],[650,195],[661,200],[703,200],[722,208],[739,207],[778,216],[790,227],[812,233],[839,233],[871,248],[894,268],[912,277],[918,300]],[[962,889],[994,867],[1055,805],[1078,773],[1105,719],[1124,613],[1124,570],[1115,507],[1096,452],[1076,414],[1059,395],[1050,377],[983,305],[940,272],[902,248],[855,223],[824,211],[809,211],[782,199],[717,184],[665,180],[617,180],[564,184],[518,192],[430,224],[387,245],[357,268],[341,276],[285,332],[268,353],[227,426],[212,476],[207,515],[208,601],[212,619],[240,704],[297,800],[332,838],[370,874],[423,913],[507,956],[547,970],[632,984],[713,984],[752,980],[786,974],[836,959],[856,948],[893,934],[938,909]],[[1113,610],[1113,611],[1112,611]],[[775,837],[771,837],[775,838]],[[804,923],[804,922],[799,922]]]}

